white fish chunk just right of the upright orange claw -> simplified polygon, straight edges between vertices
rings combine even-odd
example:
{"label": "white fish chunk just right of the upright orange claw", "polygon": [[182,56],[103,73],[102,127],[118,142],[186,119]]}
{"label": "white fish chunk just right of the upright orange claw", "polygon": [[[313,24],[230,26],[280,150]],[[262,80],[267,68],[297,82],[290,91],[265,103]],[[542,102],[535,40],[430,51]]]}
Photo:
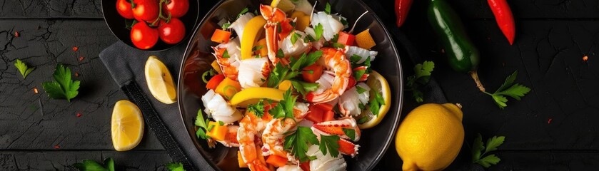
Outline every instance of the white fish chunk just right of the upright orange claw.
{"label": "white fish chunk just right of the upright orange claw", "polygon": [[[291,42],[291,38],[296,33],[300,36],[296,36],[296,43],[293,43]],[[304,43],[304,38],[306,38],[306,33],[303,33],[302,31],[293,31],[293,33],[290,33],[289,36],[283,38],[279,48],[281,48],[281,51],[283,51],[285,56],[300,56],[301,53],[310,50],[310,47],[312,46],[312,43],[310,42]]]}

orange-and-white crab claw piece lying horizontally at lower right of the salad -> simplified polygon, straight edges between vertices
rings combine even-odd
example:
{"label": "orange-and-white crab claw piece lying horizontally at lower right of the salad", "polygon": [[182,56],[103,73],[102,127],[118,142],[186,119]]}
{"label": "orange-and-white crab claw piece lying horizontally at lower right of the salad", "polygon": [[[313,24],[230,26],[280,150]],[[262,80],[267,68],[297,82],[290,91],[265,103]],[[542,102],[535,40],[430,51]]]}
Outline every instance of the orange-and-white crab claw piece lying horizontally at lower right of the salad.
{"label": "orange-and-white crab claw piece lying horizontally at lower right of the salad", "polygon": [[[354,120],[351,117],[342,118],[341,120],[331,120],[321,123],[315,123],[313,127],[322,133],[338,135],[340,138],[343,139],[353,141],[360,140],[360,128],[358,128],[356,120]],[[351,131],[348,130],[353,130],[353,139],[350,138],[350,136],[352,135]],[[350,135],[347,135],[346,133],[349,133]]]}

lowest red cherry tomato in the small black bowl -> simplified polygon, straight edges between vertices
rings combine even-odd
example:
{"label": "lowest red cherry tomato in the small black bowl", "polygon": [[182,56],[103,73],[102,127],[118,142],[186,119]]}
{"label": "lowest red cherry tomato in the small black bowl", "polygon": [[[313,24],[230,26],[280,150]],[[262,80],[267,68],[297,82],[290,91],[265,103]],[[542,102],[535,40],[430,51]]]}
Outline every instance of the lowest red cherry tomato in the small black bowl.
{"label": "lowest red cherry tomato in the small black bowl", "polygon": [[137,48],[152,48],[158,42],[158,30],[139,22],[131,27],[131,41]]}

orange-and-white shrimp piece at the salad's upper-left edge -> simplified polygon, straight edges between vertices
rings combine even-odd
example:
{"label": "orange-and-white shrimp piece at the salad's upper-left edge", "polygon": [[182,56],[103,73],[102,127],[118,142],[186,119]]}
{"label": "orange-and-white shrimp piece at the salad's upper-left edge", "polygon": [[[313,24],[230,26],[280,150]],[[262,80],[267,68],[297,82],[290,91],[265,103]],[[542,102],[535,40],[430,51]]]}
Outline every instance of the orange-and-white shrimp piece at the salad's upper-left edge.
{"label": "orange-and-white shrimp piece at the salad's upper-left edge", "polygon": [[238,67],[240,64],[241,51],[239,51],[239,38],[233,38],[228,43],[221,43],[218,46],[212,47],[216,57],[216,63],[221,66],[221,71],[226,77],[232,80],[237,80],[239,73]]}

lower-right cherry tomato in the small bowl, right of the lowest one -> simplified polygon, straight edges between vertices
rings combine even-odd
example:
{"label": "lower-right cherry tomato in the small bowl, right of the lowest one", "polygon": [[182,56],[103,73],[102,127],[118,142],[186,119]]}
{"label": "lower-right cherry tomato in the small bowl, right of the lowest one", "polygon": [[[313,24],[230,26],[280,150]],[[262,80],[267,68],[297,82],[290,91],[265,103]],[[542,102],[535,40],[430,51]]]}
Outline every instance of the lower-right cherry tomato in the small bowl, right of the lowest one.
{"label": "lower-right cherry tomato in the small bowl, right of the lowest one", "polygon": [[164,43],[174,44],[179,43],[185,36],[185,26],[183,22],[177,18],[171,18],[168,23],[162,23],[158,27],[158,36]]}

